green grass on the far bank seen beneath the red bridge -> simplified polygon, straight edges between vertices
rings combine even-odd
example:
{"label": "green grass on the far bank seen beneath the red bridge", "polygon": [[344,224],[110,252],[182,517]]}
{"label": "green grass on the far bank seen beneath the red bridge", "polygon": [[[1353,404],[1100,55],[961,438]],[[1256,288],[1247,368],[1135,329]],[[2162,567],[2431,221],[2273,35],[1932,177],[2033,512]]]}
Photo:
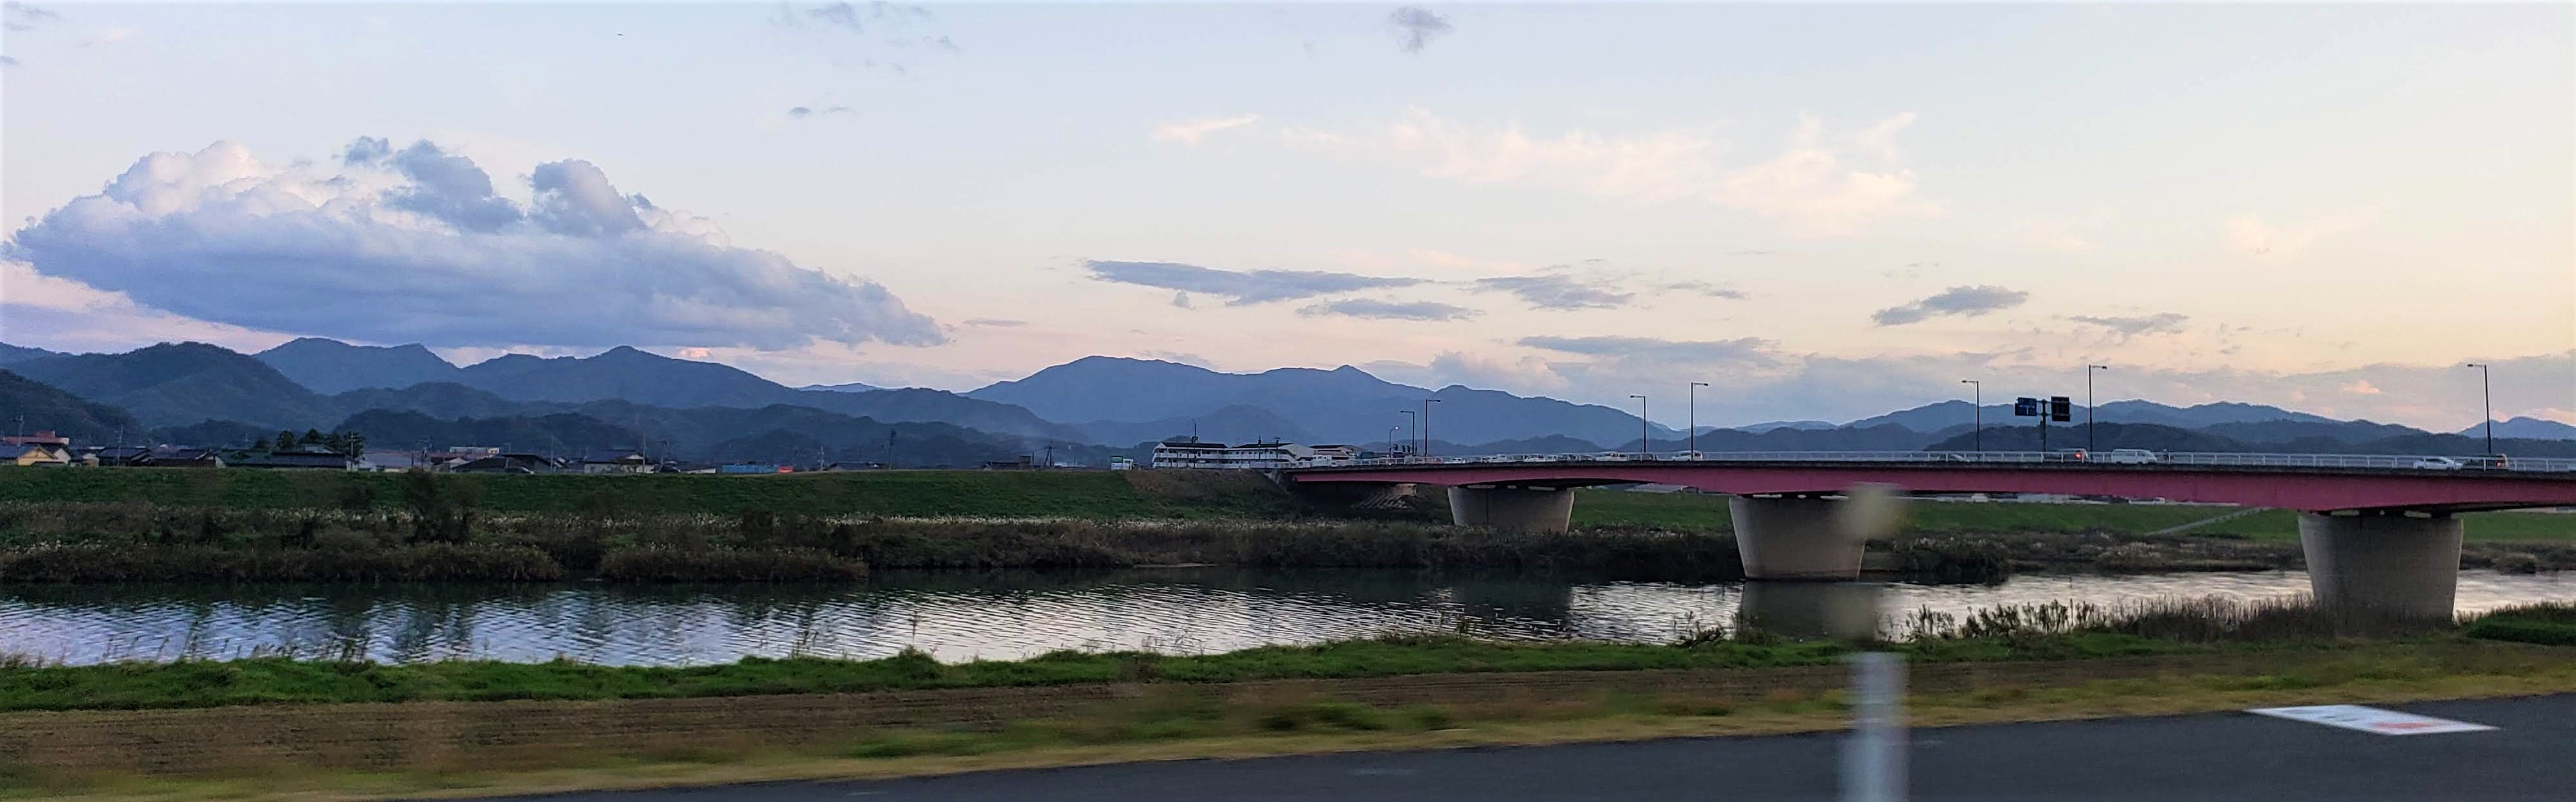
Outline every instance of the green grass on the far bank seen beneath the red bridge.
{"label": "green grass on the far bank seen beneath the red bridge", "polygon": [[[2025,531],[2110,531],[2148,534],[2231,513],[2213,505],[2141,503],[1950,503],[1917,500],[1906,505],[1911,534],[2025,534]],[[2576,516],[2568,513],[2468,513],[2465,536],[2476,542],[2576,542]],[[1574,526],[1734,531],[1726,495],[1703,493],[1623,493],[1584,490],[1574,498]],[[2195,536],[2241,536],[2295,542],[2298,516],[2264,511],[2236,521],[2190,529]]]}

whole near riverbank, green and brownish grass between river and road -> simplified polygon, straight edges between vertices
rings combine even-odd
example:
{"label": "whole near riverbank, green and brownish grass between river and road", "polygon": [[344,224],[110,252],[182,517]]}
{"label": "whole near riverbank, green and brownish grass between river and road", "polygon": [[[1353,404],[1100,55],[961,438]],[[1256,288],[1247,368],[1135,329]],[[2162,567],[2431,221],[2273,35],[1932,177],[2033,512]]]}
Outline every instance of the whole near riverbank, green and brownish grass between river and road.
{"label": "whole near riverbank, green and brownish grass between river and road", "polygon": [[[2568,621],[2568,609],[2473,621]],[[2576,691],[2576,650],[2295,606],[2017,609],[1893,645],[1917,725]],[[1386,637],[708,668],[0,668],[0,797],[368,799],[1842,727],[1844,647]],[[103,709],[116,707],[116,709]],[[70,712],[41,712],[70,709]],[[214,735],[222,732],[222,735]]]}

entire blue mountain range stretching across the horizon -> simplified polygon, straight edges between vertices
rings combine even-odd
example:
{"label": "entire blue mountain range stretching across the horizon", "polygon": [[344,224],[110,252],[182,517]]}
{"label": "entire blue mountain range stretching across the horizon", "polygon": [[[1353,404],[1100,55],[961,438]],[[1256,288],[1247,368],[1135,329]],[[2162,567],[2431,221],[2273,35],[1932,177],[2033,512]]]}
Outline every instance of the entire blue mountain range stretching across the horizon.
{"label": "entire blue mountain range stretching across the horizon", "polygon": [[[1430,405],[1430,433],[1443,454],[1522,454],[1636,449],[1638,418],[1605,405],[1522,397],[1471,387],[1409,387],[1355,366],[1224,374],[1172,361],[1090,356],[1025,379],[971,392],[881,389],[868,384],[783,387],[714,364],[611,348],[595,356],[497,356],[456,366],[422,346],[350,346],[301,338],[260,353],[206,343],[162,343],[129,353],[52,353],[0,346],[0,364],[28,379],[0,384],[0,415],[67,420],[57,428],[152,425],[204,444],[247,441],[278,428],[355,428],[376,444],[489,444],[505,438],[544,449],[608,449],[662,444],[680,454],[781,454],[801,459],[866,459],[894,436],[930,444],[956,462],[1005,459],[1056,446],[1059,456],[1141,454],[1139,444],[1175,436],[1203,441],[1388,444],[1412,441]],[[41,384],[39,384],[41,382]],[[59,389],[44,397],[39,389]],[[67,402],[70,400],[70,402]],[[77,410],[85,413],[75,413]],[[90,410],[98,407],[98,410]],[[108,415],[113,413],[113,415]],[[2388,451],[2406,444],[2424,454],[2476,454],[2483,428],[2427,433],[2419,428],[2334,420],[2267,405],[2213,402],[2174,407],[2143,400],[2092,410],[2105,449],[2154,441],[2151,449],[2208,451]],[[106,418],[103,418],[106,415]],[[1986,433],[1973,433],[1984,418]],[[2058,428],[2081,431],[2087,410]],[[103,423],[106,420],[106,423]],[[77,425],[75,425],[77,423]],[[1680,449],[1687,433],[1646,425],[1654,449]],[[1852,423],[1772,420],[1700,428],[1703,451],[1891,451],[1932,446],[2012,449],[2030,418],[2009,405],[1976,410],[1942,400]],[[2512,454],[2576,449],[2576,425],[2514,418],[2496,425]],[[95,441],[95,433],[90,436]],[[2050,444],[2076,444],[2053,433]],[[2504,449],[2504,444],[2499,444]],[[2537,451],[2535,451],[2537,449]],[[832,456],[842,454],[842,456]],[[2391,451],[2396,454],[2396,451]]]}

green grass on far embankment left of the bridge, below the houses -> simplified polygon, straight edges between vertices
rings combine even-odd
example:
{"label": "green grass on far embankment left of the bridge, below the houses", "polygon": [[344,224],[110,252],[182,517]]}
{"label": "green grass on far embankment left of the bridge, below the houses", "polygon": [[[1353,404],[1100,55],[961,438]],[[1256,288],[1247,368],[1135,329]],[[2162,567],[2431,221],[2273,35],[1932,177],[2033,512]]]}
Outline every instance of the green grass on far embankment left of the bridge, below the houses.
{"label": "green grass on far embankment left of the bridge, below the houses", "polygon": [[[402,474],[281,469],[0,469],[0,500],[149,500],[211,508],[345,508],[402,503]],[[1252,477],[1260,480],[1260,477]],[[482,508],[500,513],[765,511],[781,516],[979,518],[1221,518],[1283,513],[1267,480],[1162,477],[1141,493],[1113,472],[832,472],[832,474],[482,474]]]}

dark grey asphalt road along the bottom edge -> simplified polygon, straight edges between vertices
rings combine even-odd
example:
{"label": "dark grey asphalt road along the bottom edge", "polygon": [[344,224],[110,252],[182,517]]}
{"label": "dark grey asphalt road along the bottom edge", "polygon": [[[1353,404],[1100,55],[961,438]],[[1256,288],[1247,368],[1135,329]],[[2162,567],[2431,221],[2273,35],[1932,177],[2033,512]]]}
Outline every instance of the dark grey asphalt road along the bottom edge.
{"label": "dark grey asphalt road along the bottom edge", "polygon": [[[2491,732],[2372,735],[2257,714],[1914,730],[1914,799],[2576,799],[2576,696],[2391,704]],[[1839,735],[1685,738],[603,792],[580,802],[1659,802],[1834,799]]]}

